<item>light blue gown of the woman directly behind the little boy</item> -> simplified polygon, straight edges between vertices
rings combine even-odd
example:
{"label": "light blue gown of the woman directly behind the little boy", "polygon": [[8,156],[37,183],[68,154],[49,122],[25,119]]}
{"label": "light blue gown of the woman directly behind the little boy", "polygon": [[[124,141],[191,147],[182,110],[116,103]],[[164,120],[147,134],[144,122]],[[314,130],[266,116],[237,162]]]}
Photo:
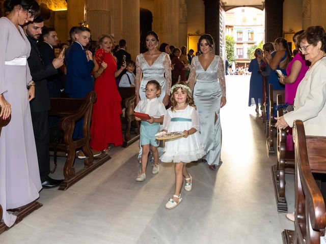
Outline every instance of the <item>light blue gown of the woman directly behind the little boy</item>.
{"label": "light blue gown of the woman directly behind the little boy", "polygon": [[[171,59],[169,54],[162,52],[154,61],[152,65],[149,65],[144,58],[143,54],[139,54],[136,58],[136,80],[140,80],[139,96],[140,99],[146,99],[145,88],[146,84],[150,80],[157,80],[161,85],[161,94],[157,98],[159,101],[163,101],[166,94],[170,93],[171,88]],[[162,126],[160,126],[162,128]],[[142,147],[140,142],[140,151],[138,159],[142,158]],[[158,154],[163,154],[162,147],[158,148]]]}

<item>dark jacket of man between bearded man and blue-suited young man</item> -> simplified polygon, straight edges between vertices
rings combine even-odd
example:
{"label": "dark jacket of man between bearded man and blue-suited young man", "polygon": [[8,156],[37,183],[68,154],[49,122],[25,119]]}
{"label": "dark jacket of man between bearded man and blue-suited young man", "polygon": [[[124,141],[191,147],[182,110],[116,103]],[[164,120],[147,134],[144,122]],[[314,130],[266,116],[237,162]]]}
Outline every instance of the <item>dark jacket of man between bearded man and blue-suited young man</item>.
{"label": "dark jacket of man between bearded man and blue-suited young man", "polygon": [[[41,58],[45,66],[52,63],[53,59],[56,58],[55,51],[49,44],[46,42],[38,43],[38,47],[41,53]],[[50,98],[60,98],[61,89],[64,88],[62,84],[62,80],[60,79],[60,73],[58,70],[58,74],[52,75],[47,78],[47,87],[49,90]]]}

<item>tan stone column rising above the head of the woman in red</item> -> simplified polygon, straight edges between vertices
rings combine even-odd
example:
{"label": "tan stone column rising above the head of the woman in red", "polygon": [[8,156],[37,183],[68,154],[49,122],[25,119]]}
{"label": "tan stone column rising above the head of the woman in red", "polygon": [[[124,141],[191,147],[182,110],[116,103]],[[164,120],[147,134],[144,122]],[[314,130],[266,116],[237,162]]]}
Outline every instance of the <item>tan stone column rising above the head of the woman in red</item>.
{"label": "tan stone column rising above the head of the woman in red", "polygon": [[87,24],[91,29],[92,39],[97,40],[102,34],[111,34],[113,23],[110,1],[87,0],[86,6]]}

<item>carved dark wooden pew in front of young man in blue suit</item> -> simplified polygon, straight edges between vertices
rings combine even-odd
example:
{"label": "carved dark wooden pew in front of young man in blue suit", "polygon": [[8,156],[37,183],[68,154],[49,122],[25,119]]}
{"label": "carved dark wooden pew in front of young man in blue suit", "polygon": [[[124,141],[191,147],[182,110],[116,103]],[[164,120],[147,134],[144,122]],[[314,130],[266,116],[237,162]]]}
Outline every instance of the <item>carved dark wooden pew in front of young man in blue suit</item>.
{"label": "carved dark wooden pew in front of young man in blue suit", "polygon": [[[57,147],[58,150],[65,151],[67,155],[63,169],[64,181],[59,190],[67,190],[75,182],[92,172],[94,169],[111,159],[107,154],[101,154],[95,159],[90,148],[90,125],[93,104],[96,101],[95,92],[90,92],[85,98],[51,98],[51,110],[49,115],[60,116],[59,128],[64,132],[64,140],[59,144],[50,144],[50,148]],[[84,117],[83,132],[84,138],[73,139],[75,121]],[[86,159],[84,168],[75,172],[75,151],[83,148]]]}

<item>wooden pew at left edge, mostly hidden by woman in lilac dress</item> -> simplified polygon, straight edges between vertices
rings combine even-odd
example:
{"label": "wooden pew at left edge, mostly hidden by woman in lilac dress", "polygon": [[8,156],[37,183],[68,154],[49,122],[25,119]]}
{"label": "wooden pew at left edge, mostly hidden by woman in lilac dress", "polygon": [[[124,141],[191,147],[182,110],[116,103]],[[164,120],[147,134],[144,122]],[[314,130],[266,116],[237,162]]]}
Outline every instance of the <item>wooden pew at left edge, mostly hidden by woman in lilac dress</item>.
{"label": "wooden pew at left edge, mostly hidden by woman in lilac dress", "polygon": [[[1,112],[1,107],[0,107],[0,112]],[[6,120],[3,120],[2,118],[0,118],[0,136],[1,136],[2,128],[7,126],[9,124],[10,120],[11,120],[11,116]],[[14,225],[16,225],[17,223],[22,221],[23,218],[25,218],[26,216],[31,214],[31,212],[40,208],[41,206],[43,206],[43,204],[41,204],[37,201],[33,201],[25,206],[21,206],[21,207],[15,208],[15,209],[9,209],[10,211],[13,211],[14,215],[17,217]],[[3,209],[2,206],[0,205],[0,218],[2,218],[4,211],[6,211],[6,209]],[[12,225],[11,227],[13,227],[14,225]],[[5,223],[3,221],[0,221],[0,234],[8,229],[9,229],[9,227],[7,225],[5,225]]]}

